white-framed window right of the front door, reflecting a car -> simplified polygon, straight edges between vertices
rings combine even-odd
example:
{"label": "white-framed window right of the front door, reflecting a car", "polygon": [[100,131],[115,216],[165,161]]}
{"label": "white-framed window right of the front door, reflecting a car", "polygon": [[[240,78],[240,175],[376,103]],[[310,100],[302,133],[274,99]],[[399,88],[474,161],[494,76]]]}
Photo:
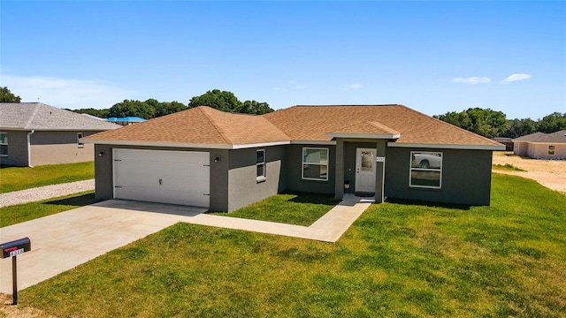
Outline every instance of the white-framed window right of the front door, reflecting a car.
{"label": "white-framed window right of the front door, reflecting a car", "polygon": [[410,152],[409,186],[440,189],[442,184],[442,153]]}

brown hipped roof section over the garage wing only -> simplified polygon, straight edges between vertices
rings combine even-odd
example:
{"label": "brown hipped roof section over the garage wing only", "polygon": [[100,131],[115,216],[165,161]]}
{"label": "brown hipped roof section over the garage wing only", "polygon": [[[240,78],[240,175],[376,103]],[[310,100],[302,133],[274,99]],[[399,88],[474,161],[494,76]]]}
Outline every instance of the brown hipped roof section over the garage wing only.
{"label": "brown hipped roof section over the garage wing only", "polygon": [[178,142],[187,144],[249,144],[288,141],[289,137],[264,117],[231,114],[200,106],[84,140]]}

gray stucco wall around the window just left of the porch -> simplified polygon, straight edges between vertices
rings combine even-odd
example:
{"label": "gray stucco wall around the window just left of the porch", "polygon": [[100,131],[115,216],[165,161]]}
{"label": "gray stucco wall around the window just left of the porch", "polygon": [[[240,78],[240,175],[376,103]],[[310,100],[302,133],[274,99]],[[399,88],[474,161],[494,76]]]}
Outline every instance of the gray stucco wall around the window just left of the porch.
{"label": "gray stucco wall around the window just left of the porch", "polygon": [[[328,148],[328,181],[302,179],[302,148]],[[334,193],[336,146],[289,145],[286,148],[286,189],[307,193]]]}

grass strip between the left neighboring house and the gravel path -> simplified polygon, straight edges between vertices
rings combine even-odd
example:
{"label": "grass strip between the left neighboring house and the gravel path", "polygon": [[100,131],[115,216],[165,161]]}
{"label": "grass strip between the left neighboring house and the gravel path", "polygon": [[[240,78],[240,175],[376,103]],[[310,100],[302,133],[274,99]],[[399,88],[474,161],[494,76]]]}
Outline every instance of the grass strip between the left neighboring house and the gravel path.
{"label": "grass strip between the left neighboring house and the gravel path", "polygon": [[0,193],[95,178],[95,163],[65,163],[0,169]]}

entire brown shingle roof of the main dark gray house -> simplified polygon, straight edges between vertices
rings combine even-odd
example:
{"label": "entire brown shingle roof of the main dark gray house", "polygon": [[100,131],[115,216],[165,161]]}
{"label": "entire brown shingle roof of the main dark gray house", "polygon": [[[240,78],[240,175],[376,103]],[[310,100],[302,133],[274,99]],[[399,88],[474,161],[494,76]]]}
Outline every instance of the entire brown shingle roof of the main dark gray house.
{"label": "entire brown shingle roof of the main dark gray house", "polygon": [[326,133],[397,135],[397,144],[501,147],[493,140],[402,105],[294,106],[262,116],[201,106],[85,140],[243,145],[275,141],[330,141]]}

